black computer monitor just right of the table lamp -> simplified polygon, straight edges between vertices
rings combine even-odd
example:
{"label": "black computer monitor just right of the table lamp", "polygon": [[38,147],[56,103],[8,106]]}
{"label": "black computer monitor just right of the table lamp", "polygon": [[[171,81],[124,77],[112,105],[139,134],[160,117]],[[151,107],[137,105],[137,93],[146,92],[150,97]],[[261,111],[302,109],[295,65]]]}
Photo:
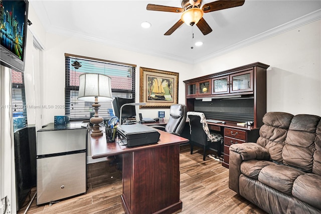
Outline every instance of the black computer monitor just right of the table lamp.
{"label": "black computer monitor just right of the table lamp", "polygon": [[[128,98],[122,98],[122,97],[114,97],[114,99],[112,100],[112,108],[114,111],[115,116],[117,116],[119,118],[120,116],[120,107],[123,104],[126,103],[133,103],[135,102],[134,99],[128,99]],[[132,117],[136,117],[136,108],[135,105],[126,105],[122,108],[122,112],[121,112],[121,117],[122,118],[132,118]]]}

